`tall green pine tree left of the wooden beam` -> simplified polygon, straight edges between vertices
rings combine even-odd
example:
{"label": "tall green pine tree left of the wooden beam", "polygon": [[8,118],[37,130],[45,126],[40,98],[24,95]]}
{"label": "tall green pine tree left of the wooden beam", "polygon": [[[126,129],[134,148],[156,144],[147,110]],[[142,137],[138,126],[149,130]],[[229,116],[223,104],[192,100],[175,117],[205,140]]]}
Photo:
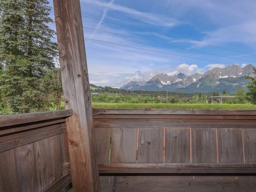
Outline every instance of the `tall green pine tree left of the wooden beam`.
{"label": "tall green pine tree left of the wooden beam", "polygon": [[[0,0],[0,93],[14,113],[47,109],[42,79],[54,68],[58,47],[47,26],[46,0]],[[6,107],[6,106],[5,106]]]}

